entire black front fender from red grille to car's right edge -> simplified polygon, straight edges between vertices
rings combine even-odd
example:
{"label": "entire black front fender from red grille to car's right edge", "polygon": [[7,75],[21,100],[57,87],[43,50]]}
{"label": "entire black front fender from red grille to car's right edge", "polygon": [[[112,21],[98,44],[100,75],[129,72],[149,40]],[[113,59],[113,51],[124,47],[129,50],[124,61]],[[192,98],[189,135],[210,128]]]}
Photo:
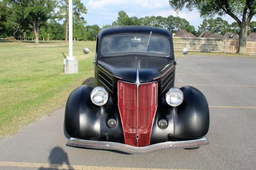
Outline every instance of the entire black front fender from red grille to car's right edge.
{"label": "entire black front fender from red grille to car's right edge", "polygon": [[[199,138],[207,134],[209,107],[204,94],[191,86],[182,87],[180,90],[183,92],[184,99],[179,106],[168,105],[164,98],[158,105],[150,144],[178,140],[179,138]],[[161,129],[157,125],[161,119],[168,122],[165,129]]]}

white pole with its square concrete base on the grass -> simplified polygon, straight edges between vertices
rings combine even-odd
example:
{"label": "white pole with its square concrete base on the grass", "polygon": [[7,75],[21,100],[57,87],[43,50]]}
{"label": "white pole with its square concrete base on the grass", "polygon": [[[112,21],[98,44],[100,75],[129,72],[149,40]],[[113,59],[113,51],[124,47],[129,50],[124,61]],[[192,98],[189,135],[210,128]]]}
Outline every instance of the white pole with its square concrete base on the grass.
{"label": "white pole with its square concrete base on the grass", "polygon": [[73,56],[73,0],[68,0],[69,56],[64,59],[65,74],[78,73],[78,61]]}

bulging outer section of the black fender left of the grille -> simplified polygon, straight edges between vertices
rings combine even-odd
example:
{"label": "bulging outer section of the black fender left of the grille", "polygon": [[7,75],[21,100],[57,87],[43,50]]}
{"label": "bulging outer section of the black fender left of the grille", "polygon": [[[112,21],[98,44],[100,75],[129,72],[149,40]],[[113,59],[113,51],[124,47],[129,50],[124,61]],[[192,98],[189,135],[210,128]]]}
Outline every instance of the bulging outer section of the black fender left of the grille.
{"label": "bulging outer section of the black fender left of the grille", "polygon": [[76,138],[100,137],[100,108],[90,100],[93,90],[88,85],[76,88],[67,99],[65,109],[65,128]]}

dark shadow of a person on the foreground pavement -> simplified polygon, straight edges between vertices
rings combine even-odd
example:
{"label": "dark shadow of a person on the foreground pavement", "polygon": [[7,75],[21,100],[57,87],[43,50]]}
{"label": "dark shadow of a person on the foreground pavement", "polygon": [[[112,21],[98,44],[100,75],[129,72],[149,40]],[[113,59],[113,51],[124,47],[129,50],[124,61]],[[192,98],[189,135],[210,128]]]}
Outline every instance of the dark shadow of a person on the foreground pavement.
{"label": "dark shadow of a person on the foreground pavement", "polygon": [[69,163],[67,153],[61,147],[54,147],[51,150],[48,161],[49,167],[42,166],[38,170],[61,169],[63,164],[67,165],[68,170],[74,170]]}

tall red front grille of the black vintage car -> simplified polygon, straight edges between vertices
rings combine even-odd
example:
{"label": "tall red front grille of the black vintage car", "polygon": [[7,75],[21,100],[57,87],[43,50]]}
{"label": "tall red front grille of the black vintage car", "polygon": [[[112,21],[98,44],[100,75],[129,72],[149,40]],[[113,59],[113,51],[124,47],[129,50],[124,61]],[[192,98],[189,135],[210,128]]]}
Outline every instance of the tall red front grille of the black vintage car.
{"label": "tall red front grille of the black vintage car", "polygon": [[127,82],[118,82],[118,107],[125,144],[142,147],[150,144],[151,127],[157,109],[157,82],[140,84],[138,92],[137,125],[137,86]]}

